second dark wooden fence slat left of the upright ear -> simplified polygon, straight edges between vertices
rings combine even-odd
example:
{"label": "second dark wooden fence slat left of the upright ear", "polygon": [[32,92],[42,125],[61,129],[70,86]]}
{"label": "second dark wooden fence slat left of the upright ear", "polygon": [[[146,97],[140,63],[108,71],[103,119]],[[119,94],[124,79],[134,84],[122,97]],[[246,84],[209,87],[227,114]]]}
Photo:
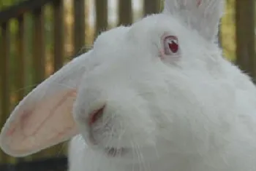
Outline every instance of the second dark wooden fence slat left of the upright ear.
{"label": "second dark wooden fence slat left of the upright ear", "polygon": [[119,0],[118,25],[129,25],[132,23],[132,0]]}

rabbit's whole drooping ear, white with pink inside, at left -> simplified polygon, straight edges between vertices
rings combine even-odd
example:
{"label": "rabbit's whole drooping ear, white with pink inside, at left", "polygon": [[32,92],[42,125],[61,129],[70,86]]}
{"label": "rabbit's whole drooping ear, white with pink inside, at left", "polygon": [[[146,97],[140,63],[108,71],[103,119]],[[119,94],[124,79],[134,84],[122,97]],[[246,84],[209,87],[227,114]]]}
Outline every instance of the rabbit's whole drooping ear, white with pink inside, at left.
{"label": "rabbit's whole drooping ear, white with pink inside, at left", "polygon": [[27,156],[78,134],[72,106],[89,56],[87,52],[64,65],[21,100],[1,130],[5,153]]}

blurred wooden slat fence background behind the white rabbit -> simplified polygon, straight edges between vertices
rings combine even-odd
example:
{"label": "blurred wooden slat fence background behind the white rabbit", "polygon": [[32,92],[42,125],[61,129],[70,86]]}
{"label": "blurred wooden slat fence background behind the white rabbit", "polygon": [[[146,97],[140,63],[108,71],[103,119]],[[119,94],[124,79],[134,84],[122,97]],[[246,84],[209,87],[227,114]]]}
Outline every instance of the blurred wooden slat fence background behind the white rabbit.
{"label": "blurred wooden slat fence background behind the white rabbit", "polygon": [[[255,0],[226,0],[219,46],[253,78]],[[43,79],[86,52],[99,32],[160,12],[161,0],[0,0],[0,127]],[[0,150],[0,170],[66,170],[67,143],[26,158]]]}

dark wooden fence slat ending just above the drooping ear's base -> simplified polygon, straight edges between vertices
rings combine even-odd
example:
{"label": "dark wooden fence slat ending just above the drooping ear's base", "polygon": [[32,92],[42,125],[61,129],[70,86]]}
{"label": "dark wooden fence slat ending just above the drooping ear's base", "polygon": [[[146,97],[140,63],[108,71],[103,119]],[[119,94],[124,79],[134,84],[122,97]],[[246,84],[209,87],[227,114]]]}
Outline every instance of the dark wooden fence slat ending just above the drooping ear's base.
{"label": "dark wooden fence slat ending just above the drooping ear's base", "polygon": [[85,1],[75,0],[74,1],[74,50],[77,54],[80,49],[85,45],[86,38],[86,20],[85,20]]}

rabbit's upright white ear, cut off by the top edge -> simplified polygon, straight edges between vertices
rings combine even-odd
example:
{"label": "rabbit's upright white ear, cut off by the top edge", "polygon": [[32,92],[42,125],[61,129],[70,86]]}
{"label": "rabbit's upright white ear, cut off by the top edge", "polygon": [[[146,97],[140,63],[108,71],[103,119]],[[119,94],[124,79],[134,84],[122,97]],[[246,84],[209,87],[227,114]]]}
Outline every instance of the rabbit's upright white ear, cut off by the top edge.
{"label": "rabbit's upright white ear, cut off by the top edge", "polygon": [[205,39],[213,41],[224,6],[225,0],[165,0],[163,13],[178,17]]}

